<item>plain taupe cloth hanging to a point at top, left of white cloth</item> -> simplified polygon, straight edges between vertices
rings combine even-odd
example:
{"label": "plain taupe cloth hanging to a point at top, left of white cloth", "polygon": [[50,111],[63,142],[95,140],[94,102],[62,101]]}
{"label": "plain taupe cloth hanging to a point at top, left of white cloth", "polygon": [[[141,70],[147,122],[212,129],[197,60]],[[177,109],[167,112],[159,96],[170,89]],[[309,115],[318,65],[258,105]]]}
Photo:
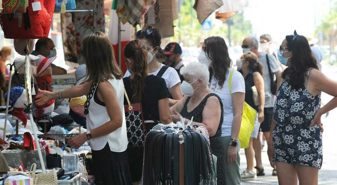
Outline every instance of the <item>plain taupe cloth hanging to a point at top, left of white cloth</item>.
{"label": "plain taupe cloth hanging to a point at top, left of white cloth", "polygon": [[218,8],[223,5],[223,0],[195,0],[193,8],[196,10],[197,19],[200,24]]}

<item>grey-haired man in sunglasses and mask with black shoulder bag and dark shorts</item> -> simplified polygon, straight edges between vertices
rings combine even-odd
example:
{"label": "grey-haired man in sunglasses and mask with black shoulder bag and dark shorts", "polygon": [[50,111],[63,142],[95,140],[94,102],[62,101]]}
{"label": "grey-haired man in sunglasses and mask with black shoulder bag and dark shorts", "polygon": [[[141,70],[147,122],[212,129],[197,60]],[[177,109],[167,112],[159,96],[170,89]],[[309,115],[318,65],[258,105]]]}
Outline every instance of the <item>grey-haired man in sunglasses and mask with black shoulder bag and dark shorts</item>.
{"label": "grey-haired man in sunglasses and mask with black shoulder bag and dark shorts", "polygon": [[[272,94],[271,88],[270,88],[271,79],[270,79],[270,76],[269,76],[267,56],[268,56],[271,72],[274,75],[278,76],[281,73],[280,67],[279,67],[279,65],[276,61],[276,58],[272,54],[258,51],[257,38],[246,37],[243,40],[242,48],[243,48],[243,51],[245,51],[245,50],[247,51],[249,49],[251,52],[254,52],[258,57],[258,61],[261,62],[262,65],[263,65],[263,79],[264,79],[264,82],[265,82],[265,107],[264,107],[265,119],[264,119],[264,122],[261,123],[260,128],[261,128],[264,136],[266,137],[266,139],[268,141],[269,140],[270,127],[271,127],[271,121],[272,121],[272,116],[273,116],[273,107],[274,107],[275,95]],[[272,80],[274,80],[274,79],[272,79]],[[265,175],[264,169],[263,169],[263,166],[262,166],[262,160],[261,160],[262,144],[261,144],[261,140],[259,139],[259,136],[256,139],[253,140],[253,147],[254,147],[255,159],[256,159],[256,167],[255,168],[258,170],[257,175],[258,176]]]}

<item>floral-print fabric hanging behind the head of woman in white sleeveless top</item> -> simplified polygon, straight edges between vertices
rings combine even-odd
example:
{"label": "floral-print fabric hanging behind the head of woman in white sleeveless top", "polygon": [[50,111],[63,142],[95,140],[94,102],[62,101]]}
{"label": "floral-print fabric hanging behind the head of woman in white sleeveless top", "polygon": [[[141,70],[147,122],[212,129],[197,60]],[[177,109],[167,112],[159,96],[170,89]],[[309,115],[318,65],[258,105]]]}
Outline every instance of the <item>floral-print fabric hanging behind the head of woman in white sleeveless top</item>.
{"label": "floral-print fabric hanging behind the head of woman in white sleeveless top", "polygon": [[[68,0],[71,1],[71,0]],[[68,3],[67,3],[68,4]],[[93,9],[94,1],[76,0],[76,9]],[[104,0],[96,0],[96,30],[104,33]],[[94,30],[94,17],[90,12],[65,13],[61,15],[64,59],[69,62],[84,63],[80,55],[81,38]]]}

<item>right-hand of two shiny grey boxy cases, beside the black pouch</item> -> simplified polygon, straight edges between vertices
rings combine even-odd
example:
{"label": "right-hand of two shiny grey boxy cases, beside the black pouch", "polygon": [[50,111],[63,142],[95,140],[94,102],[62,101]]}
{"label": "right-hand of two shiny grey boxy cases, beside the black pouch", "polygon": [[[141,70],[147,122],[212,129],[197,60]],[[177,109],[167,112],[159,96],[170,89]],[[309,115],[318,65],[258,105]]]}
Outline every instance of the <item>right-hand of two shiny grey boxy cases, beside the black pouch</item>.
{"label": "right-hand of two shiny grey boxy cases, beside the black pouch", "polygon": [[[45,158],[45,151],[41,150],[42,158],[44,161],[44,167],[47,168],[47,160]],[[30,169],[33,163],[36,163],[36,169],[41,169],[41,162],[37,150],[23,150],[21,152],[22,162],[25,169]]]}

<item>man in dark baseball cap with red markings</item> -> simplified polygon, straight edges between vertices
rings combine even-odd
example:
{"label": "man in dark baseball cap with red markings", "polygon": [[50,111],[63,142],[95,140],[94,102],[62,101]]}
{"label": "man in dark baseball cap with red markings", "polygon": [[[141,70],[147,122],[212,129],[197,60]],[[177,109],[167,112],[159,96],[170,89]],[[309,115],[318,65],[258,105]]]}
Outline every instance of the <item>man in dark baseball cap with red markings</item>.
{"label": "man in dark baseball cap with red markings", "polygon": [[184,67],[183,61],[180,58],[182,52],[183,51],[178,43],[169,43],[163,51],[165,55],[164,64],[174,68],[177,71],[181,82],[185,80],[185,78],[180,74],[180,69]]}

